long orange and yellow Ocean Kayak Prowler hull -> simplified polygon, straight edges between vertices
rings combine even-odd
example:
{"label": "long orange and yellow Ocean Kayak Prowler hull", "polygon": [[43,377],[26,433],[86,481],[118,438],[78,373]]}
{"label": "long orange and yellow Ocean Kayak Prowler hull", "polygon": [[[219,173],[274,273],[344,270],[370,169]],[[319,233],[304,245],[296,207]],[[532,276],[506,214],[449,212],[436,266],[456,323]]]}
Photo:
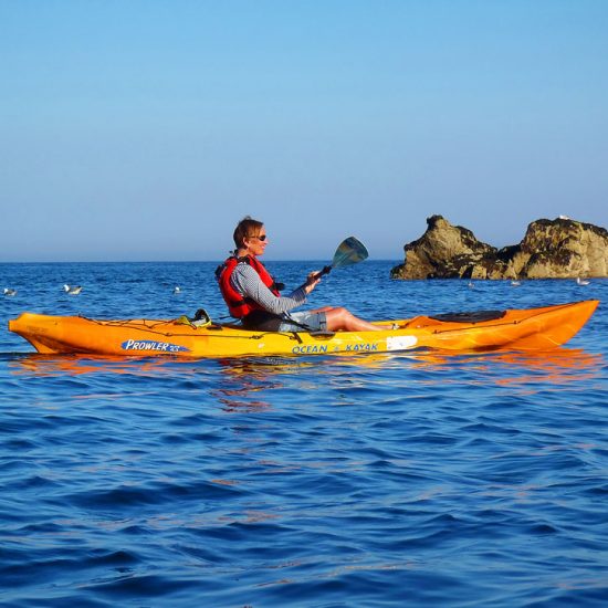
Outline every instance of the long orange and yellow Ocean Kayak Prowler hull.
{"label": "long orange and yellow Ocean Kayak Prowler hull", "polygon": [[568,342],[593,315],[589,300],[509,310],[489,321],[443,321],[429,316],[377,322],[395,324],[378,332],[251,332],[235,325],[196,327],[180,319],[91,319],[22,313],[9,321],[42,354],[109,356],[172,355],[234,357],[391,353],[415,348],[451,352],[547,350]]}

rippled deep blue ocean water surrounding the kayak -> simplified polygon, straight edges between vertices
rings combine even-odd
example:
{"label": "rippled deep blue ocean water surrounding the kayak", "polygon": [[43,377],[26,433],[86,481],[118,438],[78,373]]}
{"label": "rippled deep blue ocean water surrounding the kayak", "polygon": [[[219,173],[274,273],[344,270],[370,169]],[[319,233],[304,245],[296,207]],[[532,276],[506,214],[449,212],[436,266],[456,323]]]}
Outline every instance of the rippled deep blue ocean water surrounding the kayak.
{"label": "rippled deep blue ocean water surrounding the kayak", "polygon": [[[322,264],[268,265],[295,286]],[[0,605],[605,606],[608,281],[391,265],[334,271],[310,305],[601,304],[542,354],[41,356],[9,318],[219,319],[214,264],[0,264]]]}

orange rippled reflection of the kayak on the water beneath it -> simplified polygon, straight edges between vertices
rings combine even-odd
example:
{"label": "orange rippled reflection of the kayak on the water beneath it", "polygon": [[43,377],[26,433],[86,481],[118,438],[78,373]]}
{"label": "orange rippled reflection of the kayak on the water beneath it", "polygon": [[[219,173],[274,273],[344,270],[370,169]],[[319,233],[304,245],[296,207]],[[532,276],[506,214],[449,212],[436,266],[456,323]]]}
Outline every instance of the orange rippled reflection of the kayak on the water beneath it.
{"label": "orange rippled reflection of the kayak on the water beneath it", "polygon": [[[201,368],[218,367],[226,386],[226,395],[237,395],[243,389],[252,391],[272,388],[281,376],[311,371],[315,376],[336,375],[340,371],[382,370],[401,368],[450,371],[467,367],[479,371],[494,371],[497,384],[527,382],[534,380],[563,384],[576,376],[593,379],[598,376],[604,357],[586,353],[581,348],[559,347],[541,353],[488,353],[452,354],[437,350],[409,353],[374,353],[361,355],[334,355],[331,357],[240,357],[218,360],[184,360],[170,357],[102,357],[91,355],[27,354],[11,357],[8,368],[12,374],[55,376],[83,374],[169,374],[197,375]],[[273,380],[274,379],[274,380]]]}

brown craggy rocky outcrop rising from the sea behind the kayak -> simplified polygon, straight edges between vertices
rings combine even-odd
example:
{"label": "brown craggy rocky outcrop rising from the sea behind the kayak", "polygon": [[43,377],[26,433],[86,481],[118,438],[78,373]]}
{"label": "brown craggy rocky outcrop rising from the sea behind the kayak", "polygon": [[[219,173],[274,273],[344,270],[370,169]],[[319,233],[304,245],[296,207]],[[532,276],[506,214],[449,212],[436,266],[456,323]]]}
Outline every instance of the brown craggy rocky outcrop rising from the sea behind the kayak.
{"label": "brown craggy rocky outcrop rising from the sea behind the kayak", "polygon": [[403,249],[392,279],[570,279],[608,276],[608,231],[567,218],[536,220],[517,245],[496,249],[441,216]]}

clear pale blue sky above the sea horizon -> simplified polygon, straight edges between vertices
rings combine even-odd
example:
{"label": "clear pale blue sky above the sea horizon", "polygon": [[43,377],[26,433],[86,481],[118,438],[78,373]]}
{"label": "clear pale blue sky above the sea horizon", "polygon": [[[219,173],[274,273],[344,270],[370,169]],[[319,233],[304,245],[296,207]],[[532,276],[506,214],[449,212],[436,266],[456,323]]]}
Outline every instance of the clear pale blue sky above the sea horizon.
{"label": "clear pale blue sky above the sea horizon", "polygon": [[0,261],[608,224],[605,0],[0,0]]}

